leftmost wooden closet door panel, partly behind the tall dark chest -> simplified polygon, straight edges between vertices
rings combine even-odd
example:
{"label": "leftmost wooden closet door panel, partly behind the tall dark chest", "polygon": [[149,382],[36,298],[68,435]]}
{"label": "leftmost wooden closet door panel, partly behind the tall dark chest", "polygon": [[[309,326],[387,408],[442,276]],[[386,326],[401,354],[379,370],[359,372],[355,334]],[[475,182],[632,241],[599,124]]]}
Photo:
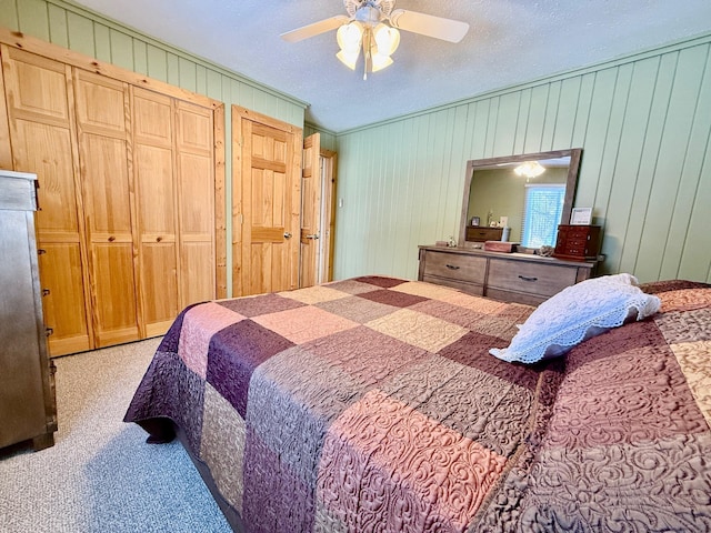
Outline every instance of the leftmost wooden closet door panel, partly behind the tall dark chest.
{"label": "leftmost wooden closet door panel, partly behind the tall dark chest", "polygon": [[51,355],[93,348],[70,68],[1,47],[12,165],[39,182],[37,232]]}

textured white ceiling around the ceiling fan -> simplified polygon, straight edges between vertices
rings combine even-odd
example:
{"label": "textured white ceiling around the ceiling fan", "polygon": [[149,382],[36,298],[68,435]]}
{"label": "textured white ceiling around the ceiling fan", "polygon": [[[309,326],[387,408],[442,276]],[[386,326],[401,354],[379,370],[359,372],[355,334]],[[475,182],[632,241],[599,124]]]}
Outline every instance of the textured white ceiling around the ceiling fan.
{"label": "textured white ceiling around the ceiling fan", "polygon": [[307,120],[336,132],[711,31],[711,0],[399,0],[469,33],[452,44],[403,31],[394,64],[363,81],[336,59],[334,31],[279,37],[346,14],[342,0],[77,3],[303,100]]}

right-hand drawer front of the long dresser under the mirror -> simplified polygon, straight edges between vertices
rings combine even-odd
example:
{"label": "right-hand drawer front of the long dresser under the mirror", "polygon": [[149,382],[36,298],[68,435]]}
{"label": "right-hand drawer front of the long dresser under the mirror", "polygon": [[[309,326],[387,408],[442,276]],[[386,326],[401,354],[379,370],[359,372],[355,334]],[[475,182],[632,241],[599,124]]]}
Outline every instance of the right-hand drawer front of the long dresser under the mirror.
{"label": "right-hand drawer front of the long dresser under the mirror", "polygon": [[504,291],[552,296],[573,285],[578,269],[547,263],[491,259],[487,285]]}

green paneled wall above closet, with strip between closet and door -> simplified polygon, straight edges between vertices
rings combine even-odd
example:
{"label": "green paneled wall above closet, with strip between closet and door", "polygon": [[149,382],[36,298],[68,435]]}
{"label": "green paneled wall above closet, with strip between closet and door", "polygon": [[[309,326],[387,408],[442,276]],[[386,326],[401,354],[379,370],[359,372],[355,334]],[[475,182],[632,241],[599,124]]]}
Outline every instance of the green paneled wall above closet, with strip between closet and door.
{"label": "green paneled wall above closet, with strip between closet and door", "polygon": [[[0,27],[21,31],[47,42],[106,61],[139,74],[170,83],[226,103],[241,105],[299,128],[306,102],[111,21],[91,10],[62,0],[0,0]],[[227,117],[226,139],[231,139]],[[0,133],[0,141],[1,133]],[[226,175],[231,175],[231,143],[226,143]],[[2,155],[0,148],[0,157]],[[226,198],[232,195],[227,180]],[[226,205],[230,212],[230,205]],[[228,217],[227,241],[232,224]],[[232,251],[227,249],[228,266]],[[227,286],[232,286],[228,268]]]}

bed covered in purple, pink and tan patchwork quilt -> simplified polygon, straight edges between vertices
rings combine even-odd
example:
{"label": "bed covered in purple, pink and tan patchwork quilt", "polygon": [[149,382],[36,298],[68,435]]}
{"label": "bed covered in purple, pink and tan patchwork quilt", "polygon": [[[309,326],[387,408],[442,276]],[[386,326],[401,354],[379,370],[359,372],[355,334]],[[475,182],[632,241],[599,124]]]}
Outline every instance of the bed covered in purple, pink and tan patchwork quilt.
{"label": "bed covered in purple, pink and tan patchwork quilt", "polygon": [[236,531],[711,531],[711,285],[640,289],[658,312],[530,364],[492,352],[540,309],[425,282],[201,303],[124,420]]}

